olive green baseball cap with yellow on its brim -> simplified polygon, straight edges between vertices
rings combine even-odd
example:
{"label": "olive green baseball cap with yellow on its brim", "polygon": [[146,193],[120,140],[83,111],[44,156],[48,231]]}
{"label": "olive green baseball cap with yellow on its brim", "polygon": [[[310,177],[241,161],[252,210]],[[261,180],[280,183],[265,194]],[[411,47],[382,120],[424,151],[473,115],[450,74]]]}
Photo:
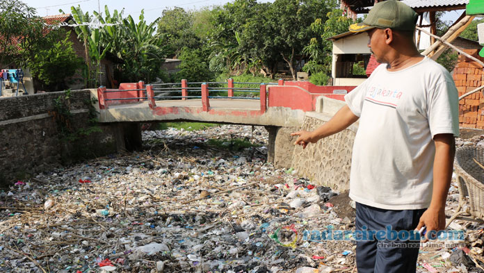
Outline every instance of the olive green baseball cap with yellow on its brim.
{"label": "olive green baseball cap with yellow on its brim", "polygon": [[401,1],[387,0],[376,3],[361,23],[352,24],[351,32],[369,31],[371,28],[392,28],[397,31],[414,31],[419,15]]}

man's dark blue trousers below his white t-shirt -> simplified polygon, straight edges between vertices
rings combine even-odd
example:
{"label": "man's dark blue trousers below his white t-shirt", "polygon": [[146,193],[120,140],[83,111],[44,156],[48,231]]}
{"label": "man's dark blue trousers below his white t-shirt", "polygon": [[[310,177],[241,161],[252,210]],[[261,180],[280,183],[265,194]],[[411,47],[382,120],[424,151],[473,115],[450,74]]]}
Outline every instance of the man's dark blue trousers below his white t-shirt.
{"label": "man's dark blue trousers below his white t-shirt", "polygon": [[[387,229],[410,231],[419,224],[426,209],[385,210],[356,203],[356,231],[385,231]],[[396,234],[396,232],[394,234]],[[356,235],[357,233],[355,233]],[[366,234],[368,234],[366,232]],[[375,237],[373,237],[374,239]],[[385,235],[385,238],[389,238]],[[391,239],[391,238],[390,238]],[[410,243],[410,247],[394,247],[394,244]],[[356,266],[358,273],[415,273],[419,241],[357,240]]]}

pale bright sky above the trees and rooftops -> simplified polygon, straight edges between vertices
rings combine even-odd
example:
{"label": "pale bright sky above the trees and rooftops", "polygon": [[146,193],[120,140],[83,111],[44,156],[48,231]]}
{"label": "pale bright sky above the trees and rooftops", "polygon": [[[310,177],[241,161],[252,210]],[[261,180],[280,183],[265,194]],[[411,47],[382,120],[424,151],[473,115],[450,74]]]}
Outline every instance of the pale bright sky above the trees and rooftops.
{"label": "pale bright sky above the trees and rooftops", "polygon": [[[39,16],[58,15],[59,9],[63,9],[65,13],[70,13],[71,6],[81,6],[83,12],[88,11],[92,14],[92,10],[98,10],[98,3],[101,11],[104,11],[104,6],[108,5],[109,10],[122,10],[124,8],[124,15],[131,15],[136,21],[142,9],[145,10],[145,20],[153,22],[154,19],[161,16],[163,10],[173,8],[175,6],[184,8],[186,10],[200,9],[207,6],[223,5],[229,1],[227,0],[23,0],[27,5],[37,8]],[[259,0],[261,1],[261,0]],[[264,0],[273,1],[273,0]],[[445,20],[455,21],[462,13],[462,10],[448,12]]]}

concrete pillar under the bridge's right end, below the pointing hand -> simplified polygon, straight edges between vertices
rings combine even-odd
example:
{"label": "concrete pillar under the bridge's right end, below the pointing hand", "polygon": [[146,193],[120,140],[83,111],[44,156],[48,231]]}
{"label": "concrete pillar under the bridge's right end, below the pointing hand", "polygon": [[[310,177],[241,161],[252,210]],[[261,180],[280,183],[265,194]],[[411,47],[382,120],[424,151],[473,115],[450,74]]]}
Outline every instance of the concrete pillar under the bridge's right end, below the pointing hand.
{"label": "concrete pillar under the bridge's right end, below the pointing hand", "polygon": [[273,163],[276,168],[291,167],[294,141],[291,133],[298,131],[298,127],[265,126],[269,133],[267,147],[267,161]]}

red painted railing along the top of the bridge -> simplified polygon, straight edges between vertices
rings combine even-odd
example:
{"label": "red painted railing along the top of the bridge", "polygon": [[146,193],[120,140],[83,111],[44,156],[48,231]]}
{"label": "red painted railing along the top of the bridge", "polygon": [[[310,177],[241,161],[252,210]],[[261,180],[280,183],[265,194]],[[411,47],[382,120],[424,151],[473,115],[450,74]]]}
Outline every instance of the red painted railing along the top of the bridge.
{"label": "red painted railing along the top of the bridge", "polygon": [[[200,84],[200,88],[191,87]],[[227,84],[227,88],[213,87],[213,84]],[[156,108],[157,99],[201,99],[200,107],[204,112],[210,111],[210,99],[258,99],[260,101],[260,113],[265,113],[268,107],[286,107],[303,111],[316,110],[316,99],[323,95],[332,99],[344,101],[344,94],[350,92],[355,86],[318,86],[309,82],[284,81],[277,83],[245,83],[259,85],[258,88],[236,88],[234,85],[241,84],[233,81],[232,78],[226,83],[188,83],[181,80],[180,83],[158,83],[145,85],[142,81],[138,83],[121,83],[117,90],[100,87],[97,89],[99,108],[106,109],[115,104],[133,104],[147,101],[150,108]],[[272,85],[272,86],[269,86]],[[168,87],[166,87],[168,86]],[[179,86],[173,87],[173,86]],[[269,88],[268,88],[269,86]],[[210,92],[226,91],[227,97],[211,97]],[[259,97],[235,97],[234,91],[258,93]],[[162,96],[181,92],[181,96]],[[200,92],[200,96],[190,94]],[[162,106],[162,104],[160,104]]]}

